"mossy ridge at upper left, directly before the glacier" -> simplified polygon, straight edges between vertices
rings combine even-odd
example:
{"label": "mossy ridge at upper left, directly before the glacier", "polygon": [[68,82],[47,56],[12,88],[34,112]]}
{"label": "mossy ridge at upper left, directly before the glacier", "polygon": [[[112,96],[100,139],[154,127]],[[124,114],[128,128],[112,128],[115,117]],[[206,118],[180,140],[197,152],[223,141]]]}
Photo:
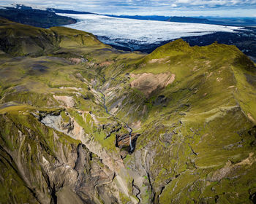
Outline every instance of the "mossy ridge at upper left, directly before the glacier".
{"label": "mossy ridge at upper left, directly before the glacier", "polygon": [[93,34],[71,28],[44,29],[0,18],[0,31],[0,50],[12,56],[50,55],[92,61],[138,57],[138,54],[118,51],[102,44]]}

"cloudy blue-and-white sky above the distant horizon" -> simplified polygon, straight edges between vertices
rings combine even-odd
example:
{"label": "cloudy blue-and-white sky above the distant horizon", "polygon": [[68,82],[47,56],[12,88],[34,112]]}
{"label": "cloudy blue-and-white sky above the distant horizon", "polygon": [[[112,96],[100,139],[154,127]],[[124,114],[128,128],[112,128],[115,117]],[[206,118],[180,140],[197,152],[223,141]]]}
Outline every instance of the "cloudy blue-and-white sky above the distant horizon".
{"label": "cloudy blue-and-white sky above the distant horizon", "polygon": [[2,0],[0,4],[25,4],[116,15],[256,17],[256,0]]}

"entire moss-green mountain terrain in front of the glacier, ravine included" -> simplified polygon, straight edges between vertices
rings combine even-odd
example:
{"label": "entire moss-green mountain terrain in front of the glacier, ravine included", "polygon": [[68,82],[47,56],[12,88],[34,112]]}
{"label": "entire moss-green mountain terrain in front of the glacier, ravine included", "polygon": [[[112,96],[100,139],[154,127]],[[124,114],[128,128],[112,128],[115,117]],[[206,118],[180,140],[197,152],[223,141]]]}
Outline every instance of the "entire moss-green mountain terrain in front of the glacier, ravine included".
{"label": "entire moss-green mountain terrain in front of the glacier, ravine included", "polygon": [[[50,203],[54,190],[69,189],[68,179],[45,177],[47,160],[84,173],[78,182],[94,198],[72,193],[88,202],[110,201],[102,192],[116,203],[254,202],[256,71],[236,47],[180,39],[144,55],[69,28],[1,20],[0,29],[1,200]],[[146,95],[131,85],[141,74],[175,77]],[[126,123],[140,134],[132,154],[116,147],[116,136],[129,136]],[[92,151],[83,165],[74,159],[81,143]],[[88,175],[100,170],[111,176],[98,186]]]}

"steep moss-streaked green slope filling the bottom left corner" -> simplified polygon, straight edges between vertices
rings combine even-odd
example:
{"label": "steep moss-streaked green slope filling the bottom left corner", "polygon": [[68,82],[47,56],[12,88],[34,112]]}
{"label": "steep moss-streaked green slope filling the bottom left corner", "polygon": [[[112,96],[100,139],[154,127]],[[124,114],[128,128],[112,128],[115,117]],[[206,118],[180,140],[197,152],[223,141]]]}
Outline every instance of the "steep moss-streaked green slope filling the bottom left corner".
{"label": "steep moss-streaked green slope filling the bottom left corner", "polygon": [[[1,109],[1,202],[50,202],[47,182],[41,172],[42,157],[56,162],[61,151],[70,151],[80,144],[64,134],[42,125],[31,114],[29,106]],[[68,156],[67,156],[68,157]],[[39,200],[38,200],[39,199]]]}

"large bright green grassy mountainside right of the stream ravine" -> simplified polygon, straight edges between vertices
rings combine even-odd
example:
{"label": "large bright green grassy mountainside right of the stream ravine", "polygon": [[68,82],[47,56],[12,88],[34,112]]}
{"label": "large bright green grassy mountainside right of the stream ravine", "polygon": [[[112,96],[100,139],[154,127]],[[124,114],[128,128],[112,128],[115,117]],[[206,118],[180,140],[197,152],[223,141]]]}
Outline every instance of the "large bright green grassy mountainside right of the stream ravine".
{"label": "large bright green grassy mountainside right of the stream ravine", "polygon": [[[153,59],[161,60],[152,63]],[[149,172],[155,201],[250,203],[249,197],[255,192],[255,156],[250,164],[225,168],[226,174],[217,170],[228,161],[240,164],[250,153],[255,154],[251,128],[256,118],[256,71],[252,61],[233,46],[189,47],[178,40],[127,64],[126,71],[176,74],[172,85],[149,98],[129,90],[133,103],[138,106],[143,101],[148,109],[146,117],[141,117],[142,109],[133,109],[130,122],[143,121],[137,148],[140,152],[151,149],[154,155]],[[117,98],[129,89],[124,78],[112,83],[121,82],[124,88],[116,92]],[[134,99],[132,93],[137,95]],[[157,95],[168,99],[165,106],[152,105]],[[118,116],[127,119],[127,109],[122,107]],[[132,168],[138,160],[132,157],[127,165]],[[219,180],[211,178],[214,172],[222,175]]]}

